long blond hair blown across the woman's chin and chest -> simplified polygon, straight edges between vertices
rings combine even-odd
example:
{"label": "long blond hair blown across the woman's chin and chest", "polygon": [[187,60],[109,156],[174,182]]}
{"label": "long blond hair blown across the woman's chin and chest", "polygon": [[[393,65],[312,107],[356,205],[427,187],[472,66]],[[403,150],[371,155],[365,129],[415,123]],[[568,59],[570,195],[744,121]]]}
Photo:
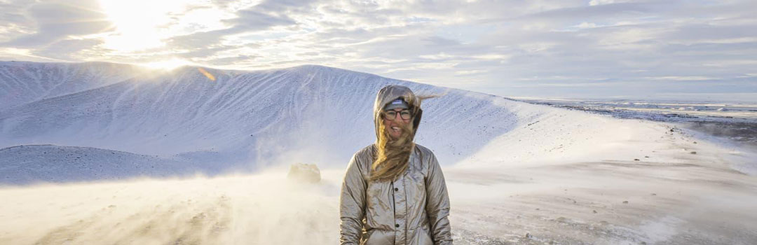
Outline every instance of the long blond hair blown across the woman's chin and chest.
{"label": "long blond hair blown across the woman's chin and chest", "polygon": [[410,153],[416,146],[413,143],[413,123],[405,124],[399,138],[391,138],[384,121],[379,123],[378,152],[371,166],[370,181],[393,181],[402,175],[410,164]]}

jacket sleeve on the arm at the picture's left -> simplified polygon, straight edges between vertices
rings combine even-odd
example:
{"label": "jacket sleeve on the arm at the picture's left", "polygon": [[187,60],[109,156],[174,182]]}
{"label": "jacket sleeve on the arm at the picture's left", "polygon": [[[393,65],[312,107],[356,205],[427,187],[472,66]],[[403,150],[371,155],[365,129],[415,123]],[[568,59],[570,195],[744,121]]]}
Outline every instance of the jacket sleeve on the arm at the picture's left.
{"label": "jacket sleeve on the arm at the picture's left", "polygon": [[339,243],[359,244],[363,233],[363,217],[366,211],[366,180],[360,172],[360,164],[355,154],[347,166],[339,197]]}

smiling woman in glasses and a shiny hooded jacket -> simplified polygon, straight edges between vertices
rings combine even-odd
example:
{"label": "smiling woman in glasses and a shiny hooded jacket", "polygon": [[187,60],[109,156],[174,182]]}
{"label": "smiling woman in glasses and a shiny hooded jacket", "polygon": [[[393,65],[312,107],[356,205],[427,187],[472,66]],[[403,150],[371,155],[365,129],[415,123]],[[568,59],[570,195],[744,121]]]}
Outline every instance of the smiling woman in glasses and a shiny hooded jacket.
{"label": "smiling woman in glasses and a shiny hooded jacket", "polygon": [[421,100],[399,85],[378,91],[377,141],[354,154],[341,186],[341,244],[452,244],[444,175],[431,150],[413,143]]}

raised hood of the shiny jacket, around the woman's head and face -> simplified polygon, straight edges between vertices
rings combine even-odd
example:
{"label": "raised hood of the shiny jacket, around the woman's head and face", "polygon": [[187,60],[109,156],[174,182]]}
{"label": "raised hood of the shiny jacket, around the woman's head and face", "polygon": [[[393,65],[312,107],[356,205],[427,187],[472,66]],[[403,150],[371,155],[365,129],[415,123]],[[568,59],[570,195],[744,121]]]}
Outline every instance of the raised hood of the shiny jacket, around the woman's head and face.
{"label": "raised hood of the shiny jacket, around the woman's head and face", "polygon": [[411,91],[410,88],[400,85],[388,85],[378,91],[376,101],[373,104],[373,123],[375,125],[376,140],[378,140],[379,136],[378,126],[382,120],[381,112],[384,110],[386,104],[397,98],[402,98],[403,101],[410,105],[410,111],[413,113],[413,133],[410,135],[410,139],[412,140],[415,138],[423,114],[420,98],[413,94],[413,91]]}

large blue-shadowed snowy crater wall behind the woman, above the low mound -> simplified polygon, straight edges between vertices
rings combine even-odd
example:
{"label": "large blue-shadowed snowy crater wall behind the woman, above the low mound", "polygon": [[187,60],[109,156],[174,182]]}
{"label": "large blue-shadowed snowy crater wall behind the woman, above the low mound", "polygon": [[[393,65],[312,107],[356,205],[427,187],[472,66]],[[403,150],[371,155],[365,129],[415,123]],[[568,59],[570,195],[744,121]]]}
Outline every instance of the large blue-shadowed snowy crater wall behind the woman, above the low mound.
{"label": "large blue-shadowed snowy crater wall behind the woman, above the low mound", "polygon": [[214,81],[185,67],[14,107],[0,115],[0,146],[58,144],[161,157],[216,152],[262,166],[296,160],[342,166],[375,140],[371,107],[388,84],[446,94],[425,102],[418,137],[444,163],[515,126],[501,103],[518,102],[494,104],[491,95],[318,66],[207,71]]}

